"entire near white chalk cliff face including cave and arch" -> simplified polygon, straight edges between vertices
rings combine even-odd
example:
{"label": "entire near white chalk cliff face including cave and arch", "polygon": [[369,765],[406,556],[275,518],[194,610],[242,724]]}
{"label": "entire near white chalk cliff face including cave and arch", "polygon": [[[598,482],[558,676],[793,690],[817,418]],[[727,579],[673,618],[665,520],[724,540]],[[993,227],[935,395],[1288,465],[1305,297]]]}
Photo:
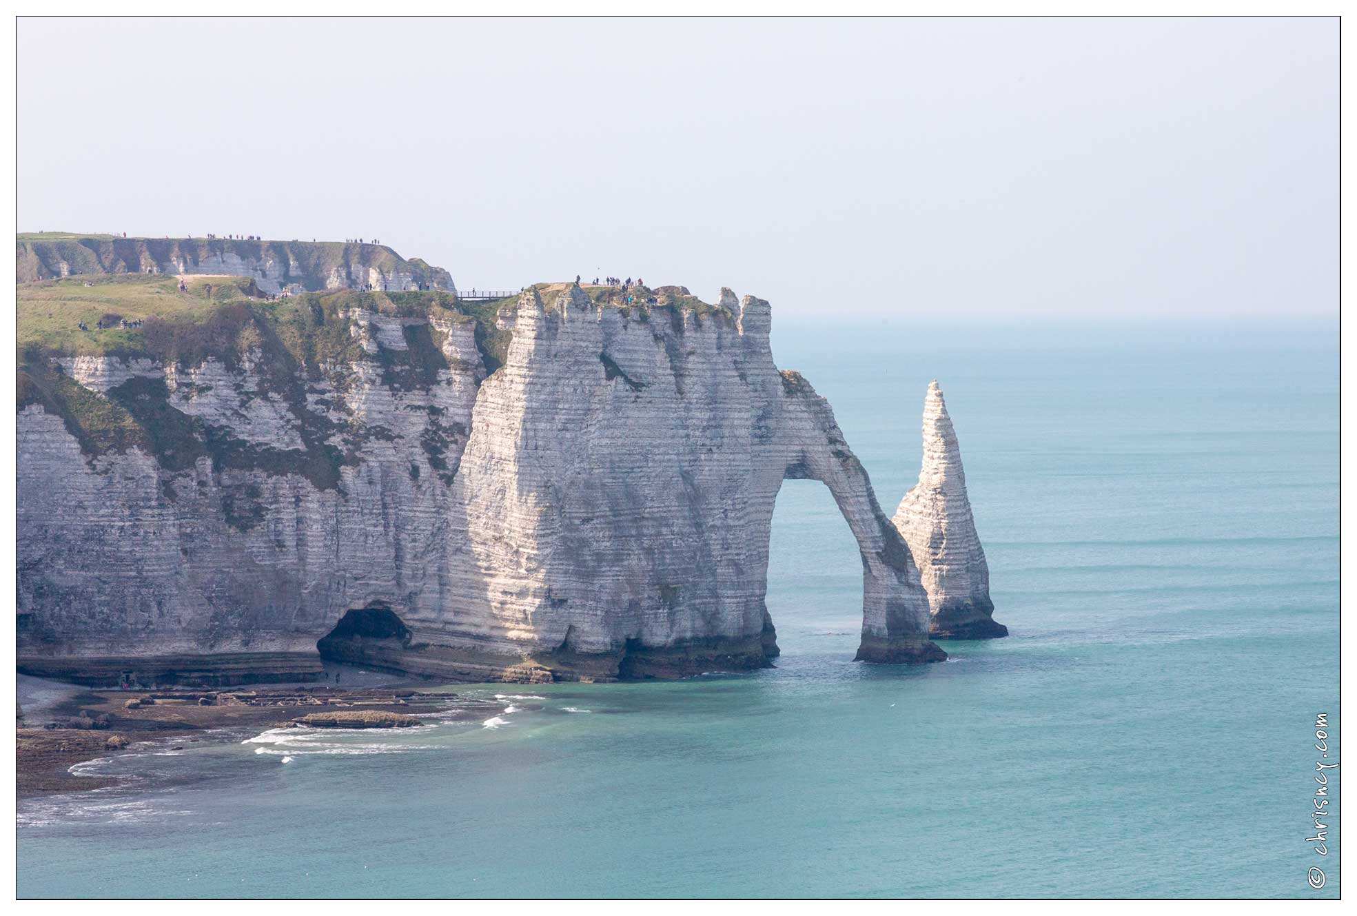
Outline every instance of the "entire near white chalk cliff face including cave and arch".
{"label": "entire near white chalk cliff face including cave and arch", "polygon": [[944,658],[828,403],[773,365],[767,303],[529,290],[499,309],[502,366],[486,328],[437,305],[313,322],[350,346],[282,349],[259,326],[229,358],[30,365],[24,670],[304,676],[323,638],[464,680],[757,668],[778,651],[773,501],[799,478],[829,487],[862,551],[859,658]]}

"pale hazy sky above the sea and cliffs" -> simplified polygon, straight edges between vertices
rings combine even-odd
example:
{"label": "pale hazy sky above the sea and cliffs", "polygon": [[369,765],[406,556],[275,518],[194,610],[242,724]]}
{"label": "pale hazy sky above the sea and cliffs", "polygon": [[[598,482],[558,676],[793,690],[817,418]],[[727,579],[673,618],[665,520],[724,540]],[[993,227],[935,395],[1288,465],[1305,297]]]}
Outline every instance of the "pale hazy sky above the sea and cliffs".
{"label": "pale hazy sky above the sea and cliffs", "polygon": [[19,20],[19,228],[776,313],[1335,316],[1337,19]]}

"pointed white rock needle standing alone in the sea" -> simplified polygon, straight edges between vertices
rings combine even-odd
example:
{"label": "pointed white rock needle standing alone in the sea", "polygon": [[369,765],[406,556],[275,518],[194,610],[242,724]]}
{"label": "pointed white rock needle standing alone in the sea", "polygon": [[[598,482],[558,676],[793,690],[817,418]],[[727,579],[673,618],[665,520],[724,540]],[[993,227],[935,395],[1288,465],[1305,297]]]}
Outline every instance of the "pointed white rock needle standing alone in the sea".
{"label": "pointed white rock needle standing alone in the sea", "polygon": [[961,448],[936,381],[924,396],[924,457],[919,483],[900,502],[896,528],[909,544],[932,616],[934,636],[1007,636],[995,623],[989,565],[966,497]]}

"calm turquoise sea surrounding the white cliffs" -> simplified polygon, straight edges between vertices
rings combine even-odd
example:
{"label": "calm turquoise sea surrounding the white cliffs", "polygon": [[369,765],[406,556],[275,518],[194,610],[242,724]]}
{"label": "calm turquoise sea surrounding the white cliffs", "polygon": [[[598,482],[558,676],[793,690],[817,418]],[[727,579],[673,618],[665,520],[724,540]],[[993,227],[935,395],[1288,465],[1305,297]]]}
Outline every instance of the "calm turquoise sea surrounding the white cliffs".
{"label": "calm turquoise sea surrounding the white cliffs", "polygon": [[852,537],[788,482],[775,670],[456,688],[506,695],[494,727],[98,764],[134,779],[20,803],[19,894],[1337,896],[1337,831],[1304,841],[1337,330],[786,324],[887,513],[940,380],[1011,638],[854,664]]}

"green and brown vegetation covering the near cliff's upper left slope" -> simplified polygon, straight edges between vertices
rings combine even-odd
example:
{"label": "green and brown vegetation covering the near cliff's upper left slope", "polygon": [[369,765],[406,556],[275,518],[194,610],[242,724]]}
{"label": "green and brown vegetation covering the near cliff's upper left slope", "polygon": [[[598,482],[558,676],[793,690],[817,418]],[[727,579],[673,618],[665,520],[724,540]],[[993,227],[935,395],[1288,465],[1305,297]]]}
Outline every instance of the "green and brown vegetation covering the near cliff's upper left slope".
{"label": "green and brown vegetation covering the near cliff's upper left slope", "polygon": [[[404,327],[408,349],[380,349],[369,357],[353,334],[351,312],[366,309],[444,324],[476,322],[478,339],[506,337],[494,327],[493,309],[483,304],[463,309],[444,292],[334,290],[269,299],[254,281],[240,277],[191,277],[186,286],[180,290],[176,277],[163,274],[20,284],[19,408],[38,403],[61,417],[88,455],[136,446],[156,456],[168,471],[189,470],[208,456],[217,470],[301,474],[318,487],[330,489],[338,486],[339,468],[357,460],[362,442],[384,430],[349,429],[311,408],[308,388],[322,381],[327,368],[375,358],[384,383],[394,388],[427,388],[448,368],[433,323]],[[121,327],[122,320],[140,324]],[[90,330],[81,330],[81,322]],[[100,322],[113,327],[100,330]],[[503,343],[508,346],[506,339]],[[104,396],[77,384],[54,364],[64,357],[107,356],[186,368],[213,358],[239,366],[248,353],[258,356],[254,372],[261,387],[293,415],[304,444],[301,453],[231,438],[220,427],[176,410],[161,377],[136,377]],[[484,364],[487,370],[498,365],[489,354]],[[334,444],[337,434],[343,446]],[[231,514],[242,527],[256,521],[250,499],[250,494],[242,494],[239,505],[232,506]]]}

